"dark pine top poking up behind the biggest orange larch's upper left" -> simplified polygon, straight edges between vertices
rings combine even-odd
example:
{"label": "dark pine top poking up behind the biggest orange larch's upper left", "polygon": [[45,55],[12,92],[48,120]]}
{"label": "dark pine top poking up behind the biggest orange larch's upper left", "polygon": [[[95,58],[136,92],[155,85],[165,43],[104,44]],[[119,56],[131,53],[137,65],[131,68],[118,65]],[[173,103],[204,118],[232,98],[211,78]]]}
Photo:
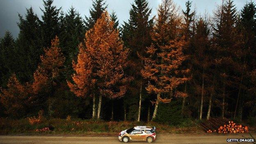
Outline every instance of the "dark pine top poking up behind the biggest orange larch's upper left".
{"label": "dark pine top poking up behind the biggest orange larch's upper left", "polygon": [[92,8],[90,8],[90,16],[85,16],[85,27],[86,30],[90,30],[98,18],[101,17],[101,14],[104,12],[105,9],[107,9],[107,5],[105,0],[93,0],[92,1]]}

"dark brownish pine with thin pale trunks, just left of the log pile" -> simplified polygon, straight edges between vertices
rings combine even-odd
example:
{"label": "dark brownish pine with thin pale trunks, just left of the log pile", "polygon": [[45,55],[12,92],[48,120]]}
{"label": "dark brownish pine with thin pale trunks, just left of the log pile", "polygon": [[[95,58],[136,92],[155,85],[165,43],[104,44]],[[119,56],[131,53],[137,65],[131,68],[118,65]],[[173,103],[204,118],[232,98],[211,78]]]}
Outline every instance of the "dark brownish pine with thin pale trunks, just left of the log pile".
{"label": "dark brownish pine with thin pale trunks, just left of the log pile", "polygon": [[[199,119],[202,119],[203,114],[203,101],[206,95],[210,95],[209,100],[209,109],[212,105],[212,96],[214,94],[213,81],[214,77],[212,75],[213,67],[213,55],[214,52],[210,47],[210,29],[207,19],[200,18],[196,23],[196,30],[194,39],[192,41],[194,45],[194,55],[192,58],[193,64],[193,79],[195,83],[199,83],[200,87],[198,94],[201,95],[201,104],[199,111]],[[195,88],[197,89],[197,88]],[[209,92],[209,94],[206,94]],[[210,117],[210,111],[207,113],[207,119]]]}

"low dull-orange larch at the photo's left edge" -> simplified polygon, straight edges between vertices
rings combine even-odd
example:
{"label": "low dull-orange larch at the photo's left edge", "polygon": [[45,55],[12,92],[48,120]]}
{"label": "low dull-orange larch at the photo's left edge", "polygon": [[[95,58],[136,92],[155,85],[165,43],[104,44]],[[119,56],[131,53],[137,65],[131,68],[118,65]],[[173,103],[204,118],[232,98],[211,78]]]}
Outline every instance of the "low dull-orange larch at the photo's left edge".
{"label": "low dull-orange larch at the photo's left edge", "polygon": [[13,74],[7,83],[7,89],[1,89],[0,102],[6,108],[5,113],[14,118],[22,117],[26,112],[26,105],[30,92]]}

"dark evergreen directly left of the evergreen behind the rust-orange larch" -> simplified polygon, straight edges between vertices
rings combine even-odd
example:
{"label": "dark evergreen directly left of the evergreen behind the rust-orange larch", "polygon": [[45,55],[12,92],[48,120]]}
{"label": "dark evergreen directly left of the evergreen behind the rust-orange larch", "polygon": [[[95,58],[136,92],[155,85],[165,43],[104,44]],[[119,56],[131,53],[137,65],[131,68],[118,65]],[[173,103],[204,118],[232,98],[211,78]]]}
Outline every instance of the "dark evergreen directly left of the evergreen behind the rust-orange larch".
{"label": "dark evergreen directly left of the evergreen behind the rust-orange larch", "polygon": [[16,75],[21,82],[32,80],[40,61],[40,55],[43,53],[40,43],[39,18],[34,14],[32,7],[26,11],[25,18],[21,14],[18,15],[20,33],[16,42],[19,53],[17,65],[21,66],[20,72]]}

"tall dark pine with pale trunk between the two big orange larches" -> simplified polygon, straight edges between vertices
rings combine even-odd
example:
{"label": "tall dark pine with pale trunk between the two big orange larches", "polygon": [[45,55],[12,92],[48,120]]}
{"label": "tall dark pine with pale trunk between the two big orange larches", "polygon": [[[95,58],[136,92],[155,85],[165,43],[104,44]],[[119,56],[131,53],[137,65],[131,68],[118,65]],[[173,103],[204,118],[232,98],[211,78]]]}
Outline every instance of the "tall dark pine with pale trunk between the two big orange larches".
{"label": "tall dark pine with pale trunk between the two big orange larches", "polygon": [[[144,91],[144,81],[140,73],[143,61],[138,57],[138,54],[144,56],[146,47],[150,46],[151,43],[150,33],[153,29],[153,18],[150,19],[150,14],[151,9],[146,0],[135,0],[135,4],[132,4],[130,9],[128,23],[124,23],[121,34],[125,46],[130,48],[129,70],[127,73],[135,78],[135,81],[131,84],[130,91],[139,87],[139,91],[136,94],[139,95],[137,121],[140,121],[142,93]],[[135,98],[135,101],[137,101],[137,98]]]}

